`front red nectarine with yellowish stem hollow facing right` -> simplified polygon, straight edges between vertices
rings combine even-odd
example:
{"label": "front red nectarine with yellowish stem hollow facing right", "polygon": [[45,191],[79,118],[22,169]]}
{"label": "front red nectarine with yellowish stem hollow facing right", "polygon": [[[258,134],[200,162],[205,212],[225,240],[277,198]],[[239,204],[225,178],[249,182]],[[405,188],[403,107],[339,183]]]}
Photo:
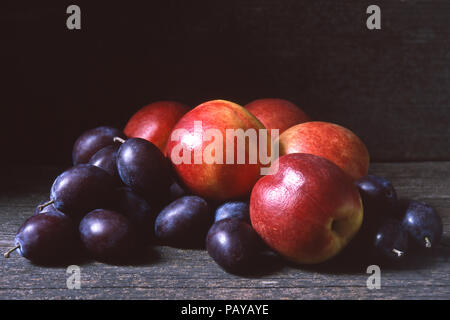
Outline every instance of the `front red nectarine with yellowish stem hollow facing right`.
{"label": "front red nectarine with yellowish stem hollow facing right", "polygon": [[312,264],[338,254],[359,230],[363,208],[350,177],[311,154],[278,159],[277,173],[261,178],[250,198],[253,228],[275,251]]}

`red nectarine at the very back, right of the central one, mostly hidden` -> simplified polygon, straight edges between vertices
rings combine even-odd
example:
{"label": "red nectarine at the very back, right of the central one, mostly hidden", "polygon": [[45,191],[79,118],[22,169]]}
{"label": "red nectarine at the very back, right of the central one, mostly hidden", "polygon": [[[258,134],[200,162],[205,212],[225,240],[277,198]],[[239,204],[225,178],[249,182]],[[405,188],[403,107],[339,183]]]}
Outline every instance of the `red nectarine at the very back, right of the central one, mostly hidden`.
{"label": "red nectarine at the very back, right of the central one, mostly hidden", "polygon": [[283,99],[258,99],[245,108],[268,129],[279,129],[279,134],[296,124],[310,121],[295,104]]}

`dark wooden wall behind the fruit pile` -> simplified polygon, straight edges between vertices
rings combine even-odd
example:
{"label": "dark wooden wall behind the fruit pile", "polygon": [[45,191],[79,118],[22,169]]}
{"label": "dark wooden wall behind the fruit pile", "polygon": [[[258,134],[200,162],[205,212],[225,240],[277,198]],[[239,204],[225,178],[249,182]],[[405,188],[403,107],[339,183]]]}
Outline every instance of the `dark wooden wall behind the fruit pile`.
{"label": "dark wooden wall behind the fruit pile", "polygon": [[156,100],[264,97],[350,128],[373,161],[450,160],[448,0],[92,2],[2,0],[1,161],[70,164],[85,129]]}

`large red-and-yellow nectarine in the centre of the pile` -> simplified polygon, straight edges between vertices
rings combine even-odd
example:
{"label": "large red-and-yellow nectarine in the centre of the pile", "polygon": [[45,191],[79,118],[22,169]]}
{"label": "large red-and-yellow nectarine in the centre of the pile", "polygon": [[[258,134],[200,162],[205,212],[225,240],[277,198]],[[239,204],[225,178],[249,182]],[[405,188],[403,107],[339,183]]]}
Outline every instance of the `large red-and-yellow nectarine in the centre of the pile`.
{"label": "large red-and-yellow nectarine in the centre of the pile", "polygon": [[[248,135],[242,144],[234,143],[239,138],[230,136],[230,132],[257,135],[261,134],[260,129],[267,134],[261,122],[240,105],[225,100],[208,101],[178,121],[166,155],[182,183],[194,194],[213,200],[242,197],[250,193],[260,177],[262,164],[267,163],[261,161],[258,153],[260,141]],[[265,150],[270,150],[270,138],[267,142]],[[206,159],[205,155],[210,156]]]}

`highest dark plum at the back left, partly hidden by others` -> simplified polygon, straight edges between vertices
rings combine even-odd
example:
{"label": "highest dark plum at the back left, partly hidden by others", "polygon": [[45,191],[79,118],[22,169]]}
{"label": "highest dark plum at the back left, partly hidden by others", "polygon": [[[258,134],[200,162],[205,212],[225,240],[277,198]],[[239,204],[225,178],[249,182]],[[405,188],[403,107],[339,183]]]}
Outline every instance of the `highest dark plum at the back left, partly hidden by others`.
{"label": "highest dark plum at the back left, partly hidden by others", "polygon": [[97,151],[114,144],[114,137],[125,138],[123,132],[112,127],[97,127],[84,132],[73,146],[73,165],[88,163]]}

